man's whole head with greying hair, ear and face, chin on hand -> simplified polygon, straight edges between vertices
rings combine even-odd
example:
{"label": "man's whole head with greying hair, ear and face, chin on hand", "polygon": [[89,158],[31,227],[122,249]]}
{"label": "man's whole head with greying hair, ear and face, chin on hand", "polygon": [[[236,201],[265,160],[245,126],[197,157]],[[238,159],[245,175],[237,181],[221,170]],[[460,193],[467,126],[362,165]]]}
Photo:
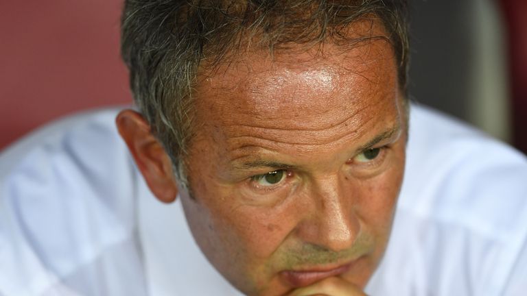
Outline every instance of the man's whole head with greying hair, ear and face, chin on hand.
{"label": "man's whole head with greying hair, ear and face, chin on hand", "polygon": [[358,4],[126,5],[123,52],[148,121],[121,112],[119,132],[243,293],[362,295],[384,253],[407,136],[404,8]]}

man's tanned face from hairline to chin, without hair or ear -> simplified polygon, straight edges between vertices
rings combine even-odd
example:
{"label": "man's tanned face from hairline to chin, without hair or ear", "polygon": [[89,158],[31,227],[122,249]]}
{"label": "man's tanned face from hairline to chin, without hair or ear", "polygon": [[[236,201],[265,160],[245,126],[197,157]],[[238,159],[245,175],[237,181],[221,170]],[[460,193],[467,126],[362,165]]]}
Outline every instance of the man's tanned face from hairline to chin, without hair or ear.
{"label": "man's tanned face from hairline to chin, without hair or ear", "polygon": [[[298,47],[300,49],[301,47]],[[364,287],[401,180],[406,110],[386,40],[243,53],[202,77],[181,194],[196,242],[248,295]]]}

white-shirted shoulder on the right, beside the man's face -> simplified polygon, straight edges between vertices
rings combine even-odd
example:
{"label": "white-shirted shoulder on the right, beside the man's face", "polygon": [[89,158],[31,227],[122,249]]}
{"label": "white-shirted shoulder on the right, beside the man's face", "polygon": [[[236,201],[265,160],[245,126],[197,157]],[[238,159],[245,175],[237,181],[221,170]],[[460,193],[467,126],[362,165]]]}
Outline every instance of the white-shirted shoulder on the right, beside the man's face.
{"label": "white-shirted shoulder on the right, beside the man's face", "polygon": [[517,267],[527,248],[526,157],[433,110],[411,113],[386,268],[418,295],[517,288],[514,278],[527,276]]}

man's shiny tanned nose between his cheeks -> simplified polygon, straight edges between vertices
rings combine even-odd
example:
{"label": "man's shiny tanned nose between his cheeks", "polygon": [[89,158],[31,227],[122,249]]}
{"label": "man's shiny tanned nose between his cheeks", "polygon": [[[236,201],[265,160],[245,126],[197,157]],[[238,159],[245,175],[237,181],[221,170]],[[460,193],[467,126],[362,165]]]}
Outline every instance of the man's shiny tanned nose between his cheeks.
{"label": "man's shiny tanned nose between his cheeks", "polygon": [[342,251],[353,245],[360,223],[348,185],[338,176],[331,176],[309,186],[309,211],[296,227],[296,234],[304,243],[331,251]]}

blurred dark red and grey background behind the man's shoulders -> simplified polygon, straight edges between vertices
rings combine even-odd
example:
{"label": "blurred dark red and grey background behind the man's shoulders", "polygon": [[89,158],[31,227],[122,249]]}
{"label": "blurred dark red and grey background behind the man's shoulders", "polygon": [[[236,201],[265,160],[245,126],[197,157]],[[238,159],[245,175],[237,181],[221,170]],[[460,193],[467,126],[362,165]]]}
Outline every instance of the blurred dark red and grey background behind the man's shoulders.
{"label": "blurred dark red and grey background behind the man's shoulders", "polygon": [[[527,153],[527,1],[410,3],[412,99]],[[0,1],[0,149],[65,114],[131,103],[121,5]]]}

